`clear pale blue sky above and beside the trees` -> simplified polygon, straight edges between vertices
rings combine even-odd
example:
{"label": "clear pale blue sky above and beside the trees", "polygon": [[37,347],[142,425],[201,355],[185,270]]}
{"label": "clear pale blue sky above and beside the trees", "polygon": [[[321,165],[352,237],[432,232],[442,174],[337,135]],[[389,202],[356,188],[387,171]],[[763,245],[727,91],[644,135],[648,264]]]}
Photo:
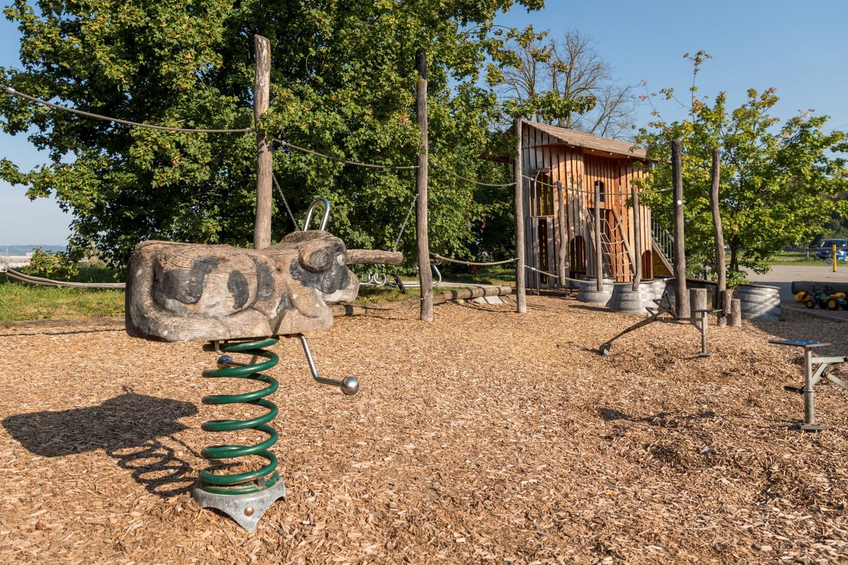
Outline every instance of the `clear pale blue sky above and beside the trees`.
{"label": "clear pale blue sky above and beside the trees", "polygon": [[[814,108],[828,114],[827,129],[848,129],[848,3],[845,0],[654,0],[648,3],[607,0],[577,3],[548,0],[541,12],[516,8],[499,24],[533,24],[559,35],[576,28],[592,36],[595,51],[617,80],[650,91],[672,86],[686,96],[692,67],[683,53],[701,49],[713,58],[698,75],[700,94],[728,93],[728,105],[745,102],[749,88],[777,88],[781,98],[773,114],[782,120]],[[19,34],[0,20],[0,66],[18,64]],[[656,102],[667,119],[679,116],[670,102]],[[650,119],[650,106],[639,108],[638,125]],[[21,169],[42,163],[22,136],[0,133],[0,156]],[[0,181],[0,246],[66,241],[70,216],[55,202],[25,197],[25,190]]]}

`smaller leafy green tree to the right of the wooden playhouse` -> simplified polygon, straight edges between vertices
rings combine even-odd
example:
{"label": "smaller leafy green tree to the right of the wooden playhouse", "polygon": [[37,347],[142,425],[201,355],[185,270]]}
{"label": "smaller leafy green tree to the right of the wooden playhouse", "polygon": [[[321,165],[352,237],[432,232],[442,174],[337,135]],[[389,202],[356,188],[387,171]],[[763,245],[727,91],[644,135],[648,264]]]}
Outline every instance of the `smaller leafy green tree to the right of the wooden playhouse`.
{"label": "smaller leafy green tree to the right of the wooden playhouse", "polygon": [[[709,55],[686,57],[697,75]],[[728,276],[735,280],[743,278],[744,267],[767,272],[767,262],[784,246],[806,244],[832,213],[848,214],[848,202],[834,198],[848,188],[845,159],[835,156],[848,144],[845,132],[823,130],[827,116],[801,113],[778,125],[768,114],[778,102],[773,88],[749,90],[746,102],[732,111],[724,92],[711,103],[697,92],[693,82],[686,119],[667,123],[655,111],[650,129],[637,137],[658,161],[644,183],[647,189],[672,186],[670,143],[682,141],[687,264],[700,269],[714,261],[710,184],[716,148],[722,152],[719,197],[728,269],[734,272]],[[677,100],[672,89],[661,95]],[[670,191],[645,194],[644,202],[656,221],[671,227]]]}

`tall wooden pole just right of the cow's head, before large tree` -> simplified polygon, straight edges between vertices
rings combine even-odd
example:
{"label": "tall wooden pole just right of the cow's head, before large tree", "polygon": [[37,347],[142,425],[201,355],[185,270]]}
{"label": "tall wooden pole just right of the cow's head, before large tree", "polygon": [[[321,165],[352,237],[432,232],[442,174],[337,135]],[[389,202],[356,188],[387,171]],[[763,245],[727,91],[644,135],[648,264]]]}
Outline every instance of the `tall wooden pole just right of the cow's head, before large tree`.
{"label": "tall wooden pole just right of the cow's head, before large tree", "polygon": [[427,238],[427,53],[416,51],[418,90],[416,116],[421,128],[421,151],[418,152],[416,177],[416,246],[418,248],[418,280],[421,283],[421,321],[432,322],[432,270],[430,270],[430,242]]}

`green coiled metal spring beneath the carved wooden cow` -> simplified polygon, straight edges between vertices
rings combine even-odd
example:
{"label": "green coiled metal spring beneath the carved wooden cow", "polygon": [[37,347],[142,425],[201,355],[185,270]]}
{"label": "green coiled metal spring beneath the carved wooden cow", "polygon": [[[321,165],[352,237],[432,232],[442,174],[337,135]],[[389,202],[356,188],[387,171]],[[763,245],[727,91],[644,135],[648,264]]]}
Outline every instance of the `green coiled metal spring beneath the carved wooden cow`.
{"label": "green coiled metal spring beneath the carved wooden cow", "polygon": [[[236,363],[232,361],[232,357],[221,356],[218,358],[219,368],[208,369],[203,372],[203,376],[210,379],[250,379],[268,385],[259,391],[243,394],[204,396],[202,400],[204,404],[253,404],[266,408],[268,413],[247,420],[210,420],[201,424],[201,429],[209,432],[255,429],[269,436],[267,440],[254,446],[209,446],[200,451],[200,454],[210,461],[247,457],[250,455],[264,457],[268,461],[268,464],[262,468],[246,473],[213,474],[211,471],[215,466],[207,468],[200,472],[200,487],[203,490],[222,495],[242,495],[265,490],[280,480],[280,475],[276,472],[276,457],[269,451],[276,444],[279,436],[276,430],[268,425],[271,420],[276,418],[279,409],[276,407],[276,404],[265,398],[265,396],[271,396],[276,392],[277,388],[279,388],[279,383],[276,379],[260,373],[260,371],[266,371],[274,367],[279,362],[279,358],[275,353],[262,349],[263,347],[273,346],[278,341],[276,338],[268,338],[259,341],[225,342],[223,346],[220,346],[218,351],[251,355],[253,356],[251,362]],[[259,357],[264,357],[267,360],[262,363],[256,363]]]}

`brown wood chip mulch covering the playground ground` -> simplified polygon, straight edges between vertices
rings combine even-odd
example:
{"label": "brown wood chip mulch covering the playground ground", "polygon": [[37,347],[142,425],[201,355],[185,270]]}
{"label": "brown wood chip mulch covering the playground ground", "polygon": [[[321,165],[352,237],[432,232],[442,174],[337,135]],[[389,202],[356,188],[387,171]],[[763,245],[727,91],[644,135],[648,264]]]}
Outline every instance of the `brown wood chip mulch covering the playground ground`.
{"label": "brown wood chip mulch covering the playground ground", "polygon": [[[254,533],[190,489],[220,443],[200,344],[114,327],[0,330],[3,563],[819,563],[848,561],[848,391],[803,416],[801,350],[845,326],[787,313],[628,334],[573,300],[448,303],[336,319],[282,363],[274,448],[286,481]],[[254,386],[254,388],[256,388]],[[230,407],[227,414],[247,413]],[[251,413],[252,415],[252,413]]]}

